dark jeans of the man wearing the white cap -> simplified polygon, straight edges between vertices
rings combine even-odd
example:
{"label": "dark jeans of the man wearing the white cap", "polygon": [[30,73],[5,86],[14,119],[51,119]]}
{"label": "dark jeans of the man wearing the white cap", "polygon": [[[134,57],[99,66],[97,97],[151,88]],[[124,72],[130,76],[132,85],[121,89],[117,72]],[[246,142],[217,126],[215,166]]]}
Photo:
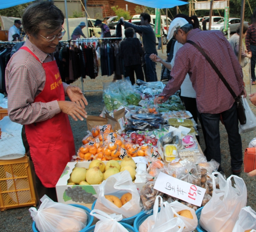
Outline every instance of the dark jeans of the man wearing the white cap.
{"label": "dark jeans of the man wearing the white cap", "polygon": [[221,147],[219,134],[219,120],[222,115],[224,126],[228,133],[228,145],[231,156],[231,168],[233,171],[241,169],[243,164],[242,141],[238,131],[238,118],[236,105],[234,105],[221,114],[200,114],[204,130],[205,142],[207,147],[206,158],[216,160],[221,164]]}

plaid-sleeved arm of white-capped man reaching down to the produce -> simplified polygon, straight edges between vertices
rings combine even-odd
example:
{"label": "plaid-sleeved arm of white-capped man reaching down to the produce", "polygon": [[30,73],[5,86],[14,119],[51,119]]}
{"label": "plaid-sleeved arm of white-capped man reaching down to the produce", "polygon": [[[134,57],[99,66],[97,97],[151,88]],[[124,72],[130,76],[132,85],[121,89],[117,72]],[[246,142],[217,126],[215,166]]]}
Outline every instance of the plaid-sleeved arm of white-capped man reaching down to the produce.
{"label": "plaid-sleeved arm of white-capped man reaching down to the produce", "polygon": [[168,84],[163,89],[163,92],[159,94],[158,98],[156,98],[156,103],[162,103],[167,101],[167,99],[177,92],[182,85],[187,72],[189,70],[188,62],[186,60],[186,51],[178,52],[175,59],[175,65],[171,70],[172,79],[168,82]]}

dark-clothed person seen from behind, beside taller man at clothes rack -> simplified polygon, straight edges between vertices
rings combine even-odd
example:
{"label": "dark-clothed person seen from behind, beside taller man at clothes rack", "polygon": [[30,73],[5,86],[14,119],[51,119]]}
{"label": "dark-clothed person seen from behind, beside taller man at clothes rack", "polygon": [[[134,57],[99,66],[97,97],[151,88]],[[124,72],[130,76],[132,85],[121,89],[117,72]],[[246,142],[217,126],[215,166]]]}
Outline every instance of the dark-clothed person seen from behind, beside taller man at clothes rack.
{"label": "dark-clothed person seen from behind, beside taller man at clothes rack", "polygon": [[124,59],[125,77],[130,77],[132,85],[135,83],[134,71],[136,78],[144,81],[144,74],[141,67],[141,56],[143,50],[138,38],[134,38],[134,29],[126,28],[124,35],[126,39],[121,42],[121,57]]}

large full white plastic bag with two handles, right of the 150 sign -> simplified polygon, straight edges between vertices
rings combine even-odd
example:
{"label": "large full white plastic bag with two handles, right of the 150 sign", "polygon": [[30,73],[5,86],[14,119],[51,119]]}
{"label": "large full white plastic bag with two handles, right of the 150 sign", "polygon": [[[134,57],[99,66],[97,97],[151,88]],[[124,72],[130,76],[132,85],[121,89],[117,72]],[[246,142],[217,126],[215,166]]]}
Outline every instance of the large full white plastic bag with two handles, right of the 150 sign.
{"label": "large full white plastic bag with two handles, right of the 150 sign", "polygon": [[[219,189],[216,189],[216,179],[219,177]],[[235,185],[232,186],[231,179]],[[208,232],[232,232],[241,208],[247,203],[247,189],[242,178],[231,175],[227,180],[219,172],[212,173],[212,198],[200,216],[200,225]]]}

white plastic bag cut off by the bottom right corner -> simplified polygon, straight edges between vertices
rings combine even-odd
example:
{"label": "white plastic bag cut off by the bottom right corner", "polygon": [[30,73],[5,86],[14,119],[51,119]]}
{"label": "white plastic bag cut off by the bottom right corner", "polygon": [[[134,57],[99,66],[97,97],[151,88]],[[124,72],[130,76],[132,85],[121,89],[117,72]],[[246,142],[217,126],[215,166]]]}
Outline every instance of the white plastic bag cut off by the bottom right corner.
{"label": "white plastic bag cut off by the bottom right corner", "polygon": [[256,212],[250,206],[243,207],[239,213],[239,219],[232,232],[256,232]]}

